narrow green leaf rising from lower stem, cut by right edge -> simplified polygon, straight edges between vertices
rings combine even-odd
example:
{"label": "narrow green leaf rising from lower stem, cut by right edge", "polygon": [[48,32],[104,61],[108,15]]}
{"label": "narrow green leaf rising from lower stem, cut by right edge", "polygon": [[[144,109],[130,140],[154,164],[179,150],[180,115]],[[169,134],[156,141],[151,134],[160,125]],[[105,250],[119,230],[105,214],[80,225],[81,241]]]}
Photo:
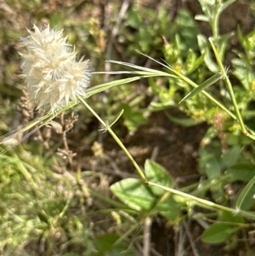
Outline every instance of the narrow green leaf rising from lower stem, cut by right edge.
{"label": "narrow green leaf rising from lower stem, cut by right edge", "polygon": [[255,202],[254,195],[255,195],[255,176],[252,177],[251,181],[249,181],[249,183],[244,187],[244,189],[240,193],[237,199],[237,203],[235,204],[235,206],[237,207],[237,211],[238,209],[241,209],[243,211],[249,210],[254,205],[254,202]]}

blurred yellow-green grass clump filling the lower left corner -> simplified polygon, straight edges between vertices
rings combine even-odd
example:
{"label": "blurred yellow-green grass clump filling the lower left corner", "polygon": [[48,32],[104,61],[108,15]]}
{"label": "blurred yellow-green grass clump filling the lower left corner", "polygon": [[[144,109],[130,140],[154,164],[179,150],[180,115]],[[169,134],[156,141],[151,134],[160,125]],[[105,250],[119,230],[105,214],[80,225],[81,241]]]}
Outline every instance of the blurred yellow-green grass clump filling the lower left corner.
{"label": "blurred yellow-green grass clump filling the lower left corner", "polygon": [[1,252],[64,255],[70,246],[91,250],[89,223],[81,220],[82,209],[71,213],[80,200],[75,176],[54,174],[39,157],[32,161],[2,154],[0,158]]}

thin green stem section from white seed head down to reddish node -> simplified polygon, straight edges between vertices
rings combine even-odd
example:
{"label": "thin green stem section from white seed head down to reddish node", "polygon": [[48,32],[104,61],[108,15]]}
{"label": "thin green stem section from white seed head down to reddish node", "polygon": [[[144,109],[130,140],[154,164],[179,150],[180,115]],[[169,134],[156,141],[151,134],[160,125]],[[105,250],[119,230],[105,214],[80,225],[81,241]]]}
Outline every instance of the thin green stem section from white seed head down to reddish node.
{"label": "thin green stem section from white seed head down to reddish node", "polygon": [[98,121],[101,124],[103,124],[103,126],[110,133],[110,135],[112,135],[113,139],[117,142],[117,144],[124,151],[124,153],[126,153],[126,155],[128,156],[129,160],[131,161],[131,163],[133,163],[133,165],[135,166],[135,169],[138,171],[138,174],[140,175],[140,177],[142,177],[144,183],[147,184],[148,181],[147,181],[145,175],[143,174],[142,170],[140,169],[138,164],[135,162],[133,156],[131,156],[131,154],[128,152],[128,149],[126,149],[124,144],[120,141],[120,139],[117,137],[117,135],[113,132],[113,130],[110,127],[108,127],[108,125],[105,123],[105,121],[103,121],[103,119],[101,119],[101,117],[99,117],[98,114],[96,114],[96,112],[94,112],[94,110],[91,108],[91,106],[87,102],[85,102],[85,100],[83,100],[82,97],[78,96],[78,98],[80,99],[80,101],[82,103],[84,103],[84,105],[87,107],[87,109],[89,109],[89,111],[91,111],[91,113],[98,119]]}

